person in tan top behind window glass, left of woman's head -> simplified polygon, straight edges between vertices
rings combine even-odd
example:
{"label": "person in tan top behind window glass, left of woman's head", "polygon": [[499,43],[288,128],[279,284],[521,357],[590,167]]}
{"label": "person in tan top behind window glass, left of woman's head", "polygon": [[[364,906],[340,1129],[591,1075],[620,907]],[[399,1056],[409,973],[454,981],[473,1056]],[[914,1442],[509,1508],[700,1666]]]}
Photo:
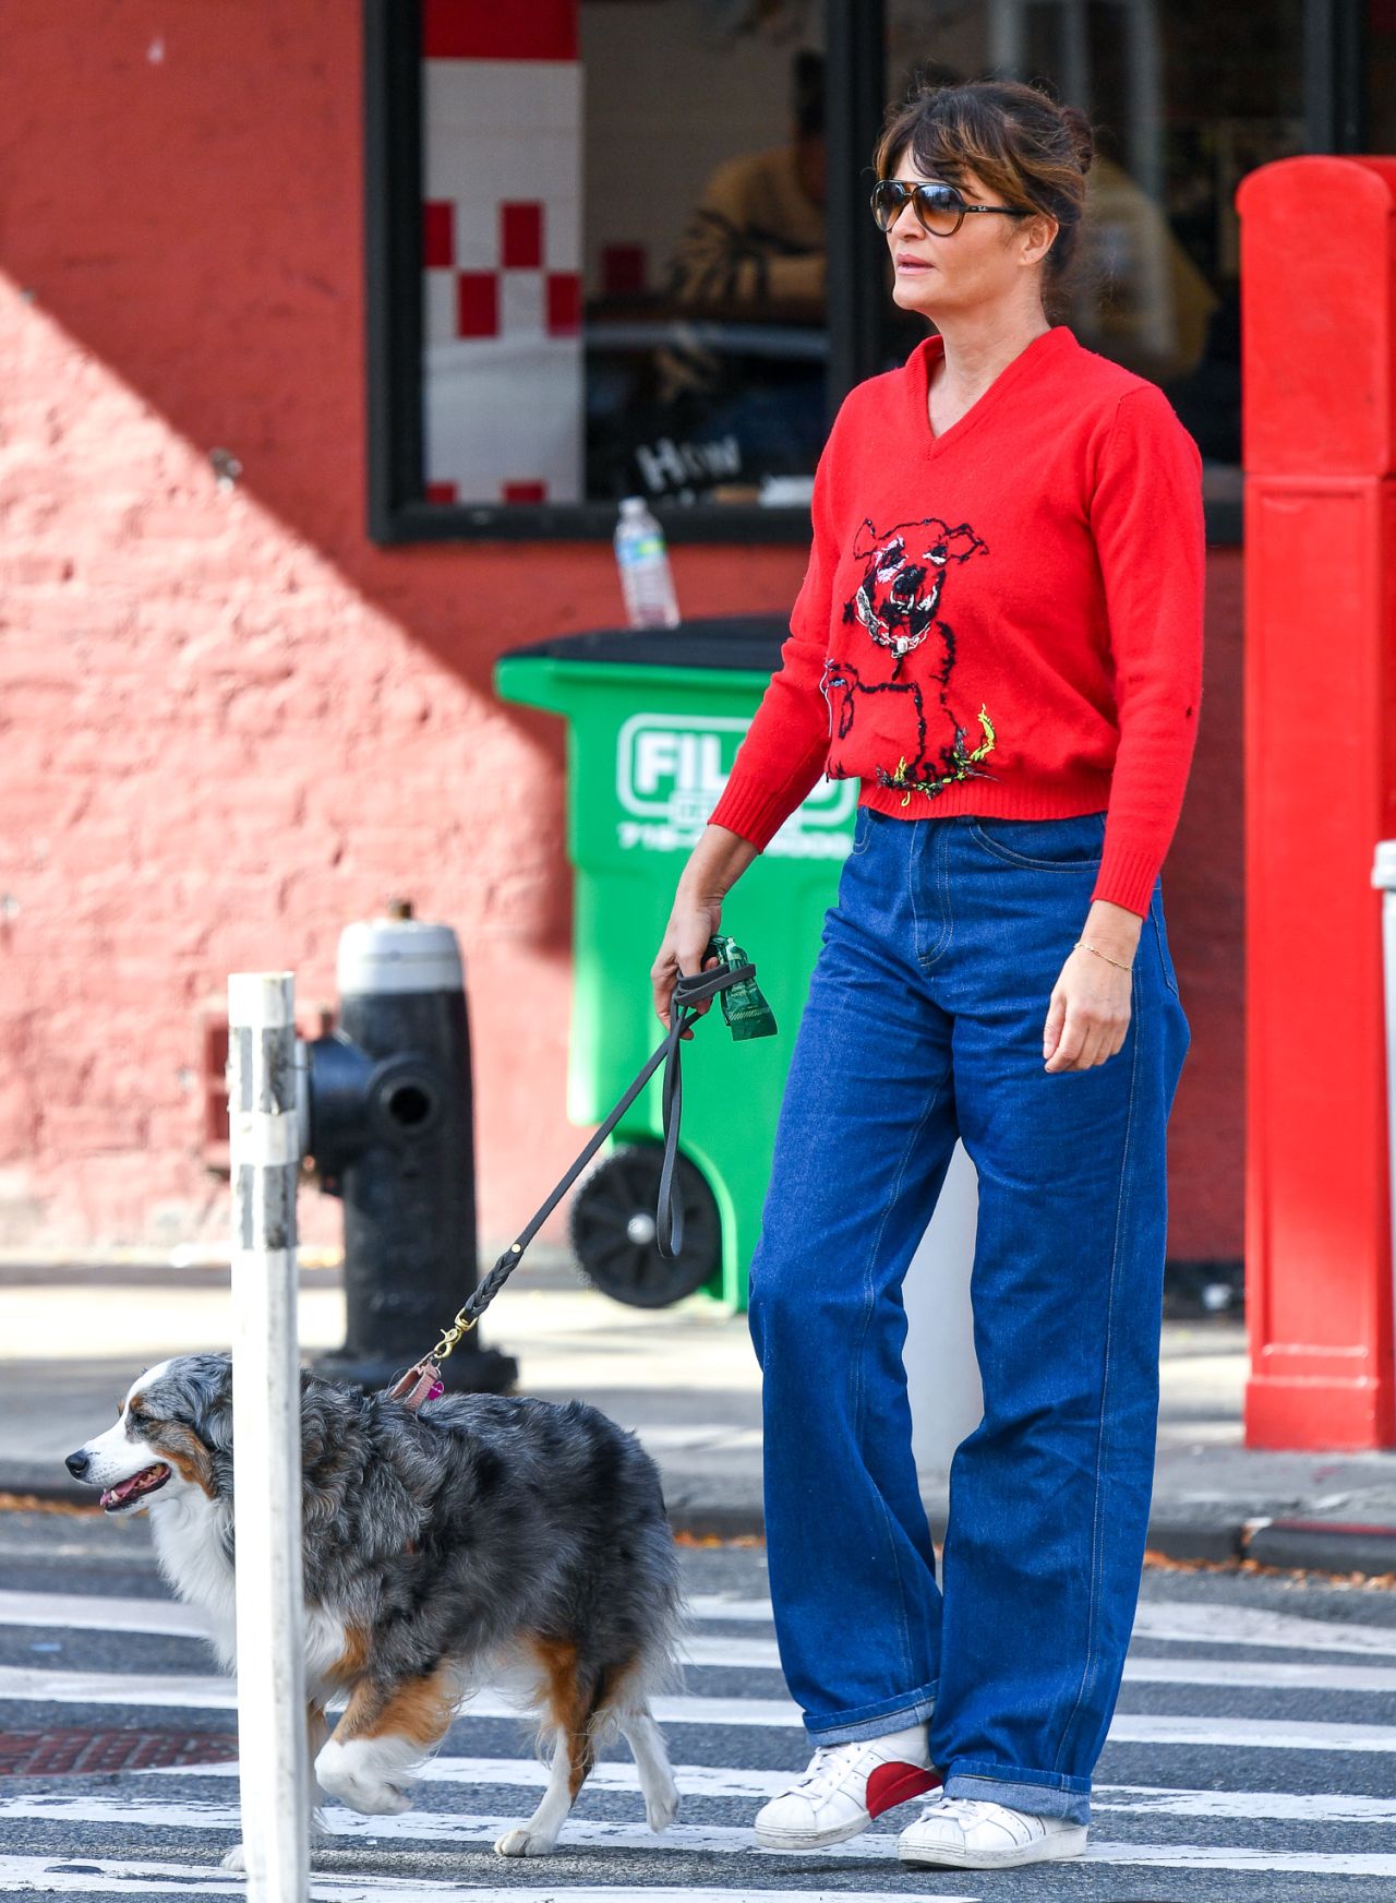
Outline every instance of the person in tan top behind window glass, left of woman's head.
{"label": "person in tan top behind window glass, left of woman's head", "polygon": [[713,171],[679,242],[668,293],[683,304],[824,308],[824,59],[795,55],[793,137]]}

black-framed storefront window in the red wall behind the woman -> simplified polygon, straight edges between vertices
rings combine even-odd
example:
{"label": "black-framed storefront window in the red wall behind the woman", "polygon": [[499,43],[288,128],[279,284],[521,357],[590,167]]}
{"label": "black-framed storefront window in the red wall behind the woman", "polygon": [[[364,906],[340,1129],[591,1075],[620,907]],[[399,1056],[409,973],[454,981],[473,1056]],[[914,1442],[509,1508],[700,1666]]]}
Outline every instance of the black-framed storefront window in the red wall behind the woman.
{"label": "black-framed storefront window in the red wall behind the woman", "polygon": [[671,539],[803,540],[833,409],[924,335],[867,217],[917,76],[1044,82],[1090,116],[1065,320],[1164,388],[1231,539],[1236,185],[1396,129],[1396,0],[365,0],[365,21],[384,540],[609,535],[624,495]]}

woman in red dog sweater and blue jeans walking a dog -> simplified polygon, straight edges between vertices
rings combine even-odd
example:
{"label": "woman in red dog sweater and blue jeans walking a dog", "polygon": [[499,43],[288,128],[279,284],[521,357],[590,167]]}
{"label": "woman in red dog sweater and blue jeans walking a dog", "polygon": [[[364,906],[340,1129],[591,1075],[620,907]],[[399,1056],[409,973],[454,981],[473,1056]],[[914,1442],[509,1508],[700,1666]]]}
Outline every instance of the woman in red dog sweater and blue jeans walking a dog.
{"label": "woman in red dog sweater and blue jeans walking a dog", "polygon": [[[820,773],[858,778],[795,1037],[751,1336],[770,1595],[814,1758],[763,1844],[943,1785],[909,1863],[1080,1855],[1139,1589],[1164,1130],[1189,1045],[1158,868],[1202,677],[1200,457],[1052,324],[1092,158],[1040,91],[922,91],[877,152],[898,304],[844,400],[772,677],[679,881],[660,1016]],[[902,1279],[955,1140],[979,1178],[983,1422],[938,1585]]]}

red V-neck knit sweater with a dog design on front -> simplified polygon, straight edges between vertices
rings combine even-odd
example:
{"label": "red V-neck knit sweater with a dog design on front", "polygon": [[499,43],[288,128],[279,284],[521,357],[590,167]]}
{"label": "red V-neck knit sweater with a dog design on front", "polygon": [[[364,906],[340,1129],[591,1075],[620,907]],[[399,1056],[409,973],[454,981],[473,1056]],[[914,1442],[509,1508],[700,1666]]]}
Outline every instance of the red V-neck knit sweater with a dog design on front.
{"label": "red V-neck knit sweater with a dog design on front", "polygon": [[1107,811],[1092,898],[1145,915],[1202,702],[1202,457],[1054,325],[936,436],[926,337],[843,402],[814,546],[711,824],[765,849],[824,773],[896,818]]}

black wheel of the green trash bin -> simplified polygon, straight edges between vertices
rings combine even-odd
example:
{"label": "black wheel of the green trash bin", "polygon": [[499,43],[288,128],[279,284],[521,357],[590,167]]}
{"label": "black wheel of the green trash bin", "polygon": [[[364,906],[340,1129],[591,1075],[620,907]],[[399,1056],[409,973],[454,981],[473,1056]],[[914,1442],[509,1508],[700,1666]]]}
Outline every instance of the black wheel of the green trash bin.
{"label": "black wheel of the green trash bin", "polygon": [[679,1157],[673,1189],[683,1205],[683,1246],[675,1258],[658,1248],[654,1210],[664,1149],[624,1144],[601,1157],[572,1197],[572,1252],[601,1294],[631,1307],[668,1307],[717,1273],[723,1239],[717,1199],[702,1170]]}

